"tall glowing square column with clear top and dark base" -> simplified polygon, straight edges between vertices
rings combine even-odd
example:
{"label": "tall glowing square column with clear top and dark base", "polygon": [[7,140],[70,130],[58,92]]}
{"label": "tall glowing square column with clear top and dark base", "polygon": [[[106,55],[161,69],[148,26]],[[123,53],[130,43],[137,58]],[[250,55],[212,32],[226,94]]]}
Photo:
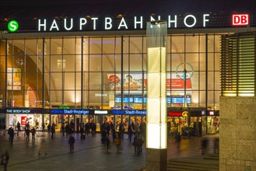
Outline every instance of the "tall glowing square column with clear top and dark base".
{"label": "tall glowing square column with clear top and dark base", "polygon": [[147,23],[146,169],[167,169],[167,22]]}

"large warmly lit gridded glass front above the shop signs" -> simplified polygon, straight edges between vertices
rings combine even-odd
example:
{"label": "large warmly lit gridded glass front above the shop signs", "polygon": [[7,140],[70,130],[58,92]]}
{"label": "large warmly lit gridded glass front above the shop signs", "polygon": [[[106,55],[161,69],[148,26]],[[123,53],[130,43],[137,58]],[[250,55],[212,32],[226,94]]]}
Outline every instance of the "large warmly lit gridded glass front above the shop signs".
{"label": "large warmly lit gridded glass front above the shop signs", "polygon": [[[219,37],[167,37],[168,107],[219,110]],[[144,36],[2,40],[0,45],[2,108],[146,110]]]}

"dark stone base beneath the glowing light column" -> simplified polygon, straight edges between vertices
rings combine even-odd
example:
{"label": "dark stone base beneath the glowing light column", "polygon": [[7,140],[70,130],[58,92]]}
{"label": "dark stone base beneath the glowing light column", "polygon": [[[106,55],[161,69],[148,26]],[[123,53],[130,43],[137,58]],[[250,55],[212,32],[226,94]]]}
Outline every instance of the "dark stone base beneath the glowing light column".
{"label": "dark stone base beneath the glowing light column", "polygon": [[146,148],[146,170],[166,171],[167,170],[167,148],[156,149]]}

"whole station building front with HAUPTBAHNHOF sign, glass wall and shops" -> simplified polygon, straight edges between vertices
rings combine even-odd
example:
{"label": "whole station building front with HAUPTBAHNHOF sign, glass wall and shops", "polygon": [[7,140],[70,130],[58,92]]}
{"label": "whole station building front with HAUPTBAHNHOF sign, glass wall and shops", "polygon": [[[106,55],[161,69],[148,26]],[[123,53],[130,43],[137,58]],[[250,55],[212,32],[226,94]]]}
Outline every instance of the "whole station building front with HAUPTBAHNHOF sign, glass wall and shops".
{"label": "whole station building front with HAUPTBAHNHOF sign, glass wall and shops", "polygon": [[[167,117],[170,135],[219,133],[222,37],[255,31],[255,14],[184,12],[148,16],[117,13],[5,16],[0,41],[1,123],[30,125],[72,120],[146,122],[146,22],[166,20]],[[145,14],[145,12],[144,12]],[[44,126],[43,126],[44,125]]]}

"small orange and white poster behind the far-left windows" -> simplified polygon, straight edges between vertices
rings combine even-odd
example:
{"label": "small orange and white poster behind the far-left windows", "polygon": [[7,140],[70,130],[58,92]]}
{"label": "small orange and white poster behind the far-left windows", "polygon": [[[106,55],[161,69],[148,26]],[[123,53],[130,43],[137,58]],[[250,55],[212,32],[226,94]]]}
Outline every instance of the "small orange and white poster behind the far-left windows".
{"label": "small orange and white poster behind the far-left windows", "polygon": [[21,90],[20,68],[7,68],[7,89]]}

